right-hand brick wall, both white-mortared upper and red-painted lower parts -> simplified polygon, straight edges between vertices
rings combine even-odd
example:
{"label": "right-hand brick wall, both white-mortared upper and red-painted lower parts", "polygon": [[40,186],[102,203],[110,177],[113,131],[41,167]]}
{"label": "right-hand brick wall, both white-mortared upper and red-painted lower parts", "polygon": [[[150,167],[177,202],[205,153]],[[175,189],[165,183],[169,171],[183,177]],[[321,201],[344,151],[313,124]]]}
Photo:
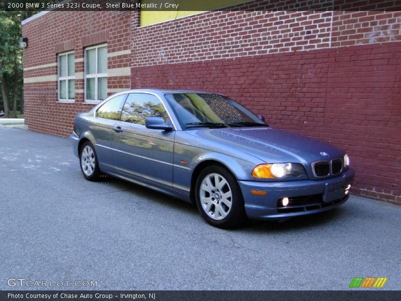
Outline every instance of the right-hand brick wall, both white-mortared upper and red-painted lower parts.
{"label": "right-hand brick wall, both white-mortared upper and red-painted lower parts", "polygon": [[257,11],[134,27],[132,88],[225,93],[346,149],[354,193],[401,203],[400,23],[401,12]]}

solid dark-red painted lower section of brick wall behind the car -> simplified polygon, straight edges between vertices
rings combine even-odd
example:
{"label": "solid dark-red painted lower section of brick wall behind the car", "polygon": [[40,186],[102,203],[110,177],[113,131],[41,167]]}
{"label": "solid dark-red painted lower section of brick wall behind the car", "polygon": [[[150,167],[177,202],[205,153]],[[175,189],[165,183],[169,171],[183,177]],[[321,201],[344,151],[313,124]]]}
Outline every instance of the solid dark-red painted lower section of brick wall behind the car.
{"label": "solid dark-red painted lower section of brick wall behind the car", "polygon": [[401,202],[401,43],[132,69],[133,87],[221,92],[345,149],[353,192]]}

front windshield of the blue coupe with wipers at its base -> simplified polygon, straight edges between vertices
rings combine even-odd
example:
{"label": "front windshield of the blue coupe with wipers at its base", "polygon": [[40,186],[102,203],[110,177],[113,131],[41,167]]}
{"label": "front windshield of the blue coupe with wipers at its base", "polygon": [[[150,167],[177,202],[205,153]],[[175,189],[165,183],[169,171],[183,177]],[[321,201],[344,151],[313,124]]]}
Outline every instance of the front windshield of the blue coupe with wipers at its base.
{"label": "front windshield of the blue coupe with wipers at its base", "polygon": [[233,99],[210,93],[165,95],[182,128],[199,126],[266,126],[251,111]]}

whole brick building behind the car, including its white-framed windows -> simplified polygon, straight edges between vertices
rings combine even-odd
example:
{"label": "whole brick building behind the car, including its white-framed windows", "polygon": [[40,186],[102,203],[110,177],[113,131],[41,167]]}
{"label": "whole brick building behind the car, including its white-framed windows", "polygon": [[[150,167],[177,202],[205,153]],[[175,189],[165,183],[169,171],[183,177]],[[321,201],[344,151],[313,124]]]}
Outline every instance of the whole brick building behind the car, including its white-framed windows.
{"label": "whole brick building behind the car, including its white-framed windows", "polygon": [[[274,127],[346,149],[353,192],[401,204],[401,12],[264,5],[180,18],[45,12],[25,20],[29,129],[67,136],[77,112],[128,88],[221,92]],[[241,10],[249,6],[259,8]]]}

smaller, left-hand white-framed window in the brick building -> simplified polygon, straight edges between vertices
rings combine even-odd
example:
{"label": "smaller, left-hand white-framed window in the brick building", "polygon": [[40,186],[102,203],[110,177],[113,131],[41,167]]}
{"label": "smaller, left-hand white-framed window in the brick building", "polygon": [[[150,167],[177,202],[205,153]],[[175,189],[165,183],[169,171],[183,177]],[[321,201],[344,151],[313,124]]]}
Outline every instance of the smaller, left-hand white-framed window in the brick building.
{"label": "smaller, left-hand white-framed window in the brick building", "polygon": [[74,52],[58,55],[59,101],[75,101],[75,56]]}

